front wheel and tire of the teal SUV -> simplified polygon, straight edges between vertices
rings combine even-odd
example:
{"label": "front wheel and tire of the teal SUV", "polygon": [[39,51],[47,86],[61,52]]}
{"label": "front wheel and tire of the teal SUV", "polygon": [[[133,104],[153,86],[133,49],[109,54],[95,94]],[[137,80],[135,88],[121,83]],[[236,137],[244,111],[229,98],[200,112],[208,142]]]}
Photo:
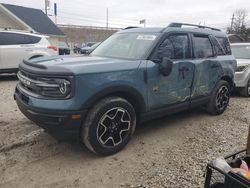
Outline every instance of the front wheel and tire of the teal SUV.
{"label": "front wheel and tire of the teal SUV", "polygon": [[88,113],[81,130],[81,140],[90,151],[111,155],[127,145],[135,127],[133,106],[123,98],[107,97]]}

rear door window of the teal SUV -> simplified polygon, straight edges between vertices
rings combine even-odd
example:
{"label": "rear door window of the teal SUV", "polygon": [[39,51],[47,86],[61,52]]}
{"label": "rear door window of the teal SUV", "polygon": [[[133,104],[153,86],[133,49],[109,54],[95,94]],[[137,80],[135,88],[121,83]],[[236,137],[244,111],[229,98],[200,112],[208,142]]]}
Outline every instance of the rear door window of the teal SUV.
{"label": "rear door window of the teal SUV", "polygon": [[196,58],[213,57],[213,47],[208,36],[194,35],[193,37],[194,56]]}

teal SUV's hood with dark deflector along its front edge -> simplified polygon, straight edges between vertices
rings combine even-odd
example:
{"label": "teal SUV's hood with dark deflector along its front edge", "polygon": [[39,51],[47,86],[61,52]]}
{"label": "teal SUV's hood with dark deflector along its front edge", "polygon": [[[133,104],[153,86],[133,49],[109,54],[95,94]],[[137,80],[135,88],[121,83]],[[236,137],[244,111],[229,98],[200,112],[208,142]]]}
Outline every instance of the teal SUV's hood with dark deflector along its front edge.
{"label": "teal SUV's hood with dark deflector along its front edge", "polygon": [[[32,67],[34,72],[41,74],[56,74],[71,72],[74,75],[86,73],[101,73],[134,70],[140,65],[140,60],[125,60],[95,56],[54,56],[29,60],[20,64],[20,68]],[[27,70],[27,71],[32,71]]]}

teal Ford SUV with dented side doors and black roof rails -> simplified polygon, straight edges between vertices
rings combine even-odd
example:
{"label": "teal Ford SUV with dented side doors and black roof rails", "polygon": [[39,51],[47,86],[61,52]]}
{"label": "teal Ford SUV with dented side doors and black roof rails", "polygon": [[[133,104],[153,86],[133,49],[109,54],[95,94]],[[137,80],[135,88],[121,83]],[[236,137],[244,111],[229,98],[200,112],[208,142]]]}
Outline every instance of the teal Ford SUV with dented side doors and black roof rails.
{"label": "teal Ford SUV with dented side doors and black roof rails", "polygon": [[218,29],[182,23],[127,28],[89,56],[23,61],[14,98],[38,126],[77,132],[89,150],[110,155],[140,122],[196,106],[222,114],[235,68],[228,38]]}

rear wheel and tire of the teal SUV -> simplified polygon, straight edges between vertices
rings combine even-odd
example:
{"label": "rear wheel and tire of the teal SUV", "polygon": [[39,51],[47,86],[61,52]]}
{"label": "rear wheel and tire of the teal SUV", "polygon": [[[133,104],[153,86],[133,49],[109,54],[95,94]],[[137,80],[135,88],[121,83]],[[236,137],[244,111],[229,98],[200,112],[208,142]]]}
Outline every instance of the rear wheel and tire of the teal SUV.
{"label": "rear wheel and tire of the teal SUV", "polygon": [[229,103],[231,88],[227,81],[220,80],[212,91],[211,98],[207,104],[207,112],[211,115],[222,114]]}

